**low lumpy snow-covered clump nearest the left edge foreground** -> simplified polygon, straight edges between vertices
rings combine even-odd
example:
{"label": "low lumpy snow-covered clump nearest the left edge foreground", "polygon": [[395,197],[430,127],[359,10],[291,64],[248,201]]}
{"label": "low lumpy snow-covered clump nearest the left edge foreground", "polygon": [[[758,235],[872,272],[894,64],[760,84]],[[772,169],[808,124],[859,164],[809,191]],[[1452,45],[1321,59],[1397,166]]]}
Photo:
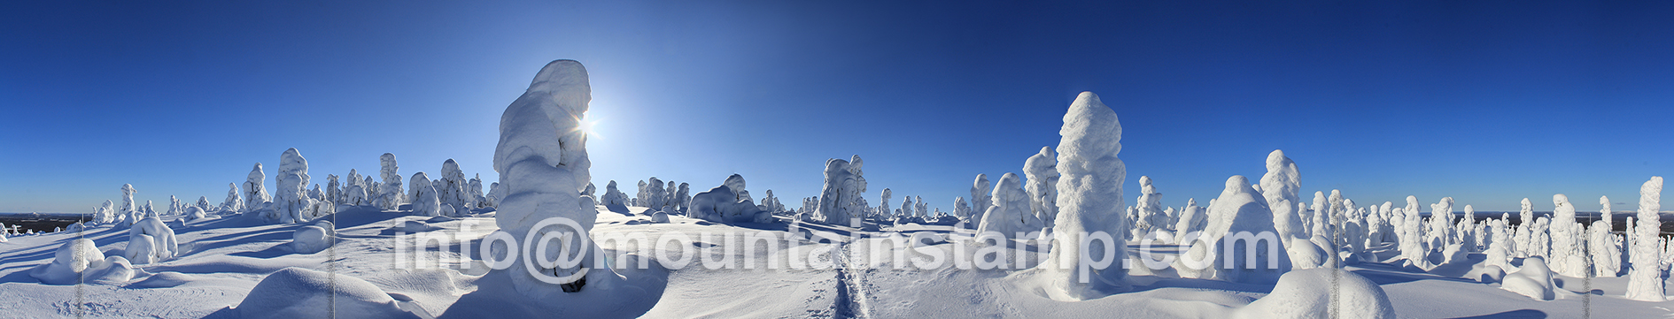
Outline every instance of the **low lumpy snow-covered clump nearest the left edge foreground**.
{"label": "low lumpy snow-covered clump nearest the left edge foreground", "polygon": [[59,246],[50,264],[35,266],[30,277],[42,284],[127,284],[134,267],[122,256],[105,257],[92,239]]}

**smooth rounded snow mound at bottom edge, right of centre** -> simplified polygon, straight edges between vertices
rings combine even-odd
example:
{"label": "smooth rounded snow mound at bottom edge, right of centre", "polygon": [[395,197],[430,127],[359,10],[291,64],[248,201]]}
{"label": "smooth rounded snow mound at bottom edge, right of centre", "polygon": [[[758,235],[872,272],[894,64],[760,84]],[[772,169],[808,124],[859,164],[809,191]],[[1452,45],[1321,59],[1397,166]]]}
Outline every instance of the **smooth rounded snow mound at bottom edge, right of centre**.
{"label": "smooth rounded snow mound at bottom edge, right of centre", "polygon": [[[1333,301],[1336,299],[1336,301]],[[1237,317],[1394,317],[1389,296],[1376,282],[1343,269],[1286,272],[1266,297]]]}

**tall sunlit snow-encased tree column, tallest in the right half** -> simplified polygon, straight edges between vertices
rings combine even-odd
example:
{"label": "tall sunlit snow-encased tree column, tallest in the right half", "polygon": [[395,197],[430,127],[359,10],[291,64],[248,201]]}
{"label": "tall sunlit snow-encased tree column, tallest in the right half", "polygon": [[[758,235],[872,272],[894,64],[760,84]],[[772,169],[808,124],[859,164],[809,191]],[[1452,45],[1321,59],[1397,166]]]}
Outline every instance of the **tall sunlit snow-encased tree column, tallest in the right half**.
{"label": "tall sunlit snow-encased tree column, tallest in the right half", "polygon": [[[1122,180],[1127,167],[1122,152],[1122,122],[1093,92],[1081,92],[1063,115],[1058,130],[1058,219],[1045,271],[1053,299],[1085,301],[1127,289],[1127,259],[1122,241]],[[976,184],[988,184],[978,175]],[[976,195],[973,192],[973,195]],[[988,202],[988,200],[979,200]],[[1110,241],[1083,242],[1103,232]],[[1086,251],[1083,251],[1083,247]],[[1083,264],[1085,262],[1085,264]],[[1101,262],[1108,262],[1100,266]]]}

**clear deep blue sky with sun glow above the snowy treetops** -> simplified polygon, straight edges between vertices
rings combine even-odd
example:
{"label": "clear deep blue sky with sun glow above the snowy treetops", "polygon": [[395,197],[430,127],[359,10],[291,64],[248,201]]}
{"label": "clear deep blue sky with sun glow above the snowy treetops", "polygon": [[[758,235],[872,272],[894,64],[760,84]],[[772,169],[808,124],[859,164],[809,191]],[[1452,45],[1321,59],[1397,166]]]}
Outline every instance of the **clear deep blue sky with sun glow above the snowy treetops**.
{"label": "clear deep blue sky with sun glow above the snowy treetops", "polygon": [[[1674,172],[1671,2],[5,2],[0,210],[211,202],[296,147],[313,180],[497,174],[501,112],[554,58],[593,78],[593,177],[815,195],[824,160],[951,210],[1091,90],[1167,205],[1259,179],[1361,204],[1637,204]],[[1426,207],[1428,210],[1428,207]]]}

